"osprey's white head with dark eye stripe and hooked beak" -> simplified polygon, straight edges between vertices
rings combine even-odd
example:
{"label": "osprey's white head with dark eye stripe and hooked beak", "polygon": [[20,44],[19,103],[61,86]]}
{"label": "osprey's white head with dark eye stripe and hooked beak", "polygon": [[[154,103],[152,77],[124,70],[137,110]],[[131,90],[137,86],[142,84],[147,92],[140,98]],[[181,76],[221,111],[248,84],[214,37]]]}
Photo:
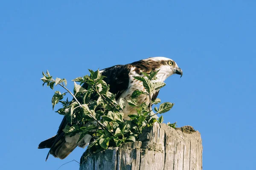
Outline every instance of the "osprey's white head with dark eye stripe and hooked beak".
{"label": "osprey's white head with dark eye stripe and hooked beak", "polygon": [[180,77],[183,75],[183,71],[178,67],[177,63],[166,57],[142,59],[140,60],[140,66],[142,70],[146,70],[144,72],[150,72],[152,69],[158,71],[157,78],[162,82],[172,74],[179,74]]}

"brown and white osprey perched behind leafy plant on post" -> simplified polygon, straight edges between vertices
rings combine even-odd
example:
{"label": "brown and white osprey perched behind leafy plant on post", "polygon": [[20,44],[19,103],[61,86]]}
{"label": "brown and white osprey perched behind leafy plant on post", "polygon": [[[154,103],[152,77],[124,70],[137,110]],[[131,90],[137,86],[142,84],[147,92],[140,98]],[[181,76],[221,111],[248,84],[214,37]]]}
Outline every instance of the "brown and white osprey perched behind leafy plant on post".
{"label": "brown and white osprey perched behind leafy plant on post", "polygon": [[[127,102],[127,100],[131,99],[131,94],[135,90],[145,92],[143,83],[134,79],[134,76],[143,77],[142,72],[150,73],[152,70],[158,71],[156,75],[157,79],[153,80],[154,82],[163,82],[172,74],[179,74],[180,77],[183,74],[176,62],[166,57],[150,57],[131,64],[115,65],[100,71],[102,76],[105,76],[104,81],[110,85],[110,92],[116,94],[116,102],[119,102],[121,98],[125,100],[125,108],[122,111],[125,119],[129,119],[129,114],[137,114],[137,111],[128,105]],[[83,85],[83,87],[86,87],[86,85]],[[158,92],[159,90],[153,92],[152,100],[157,98]],[[149,97],[147,95],[140,95],[138,102],[149,104]],[[92,138],[89,134],[85,135],[79,143],[77,143],[80,136],[79,133],[72,137],[65,136],[63,129],[66,125],[67,119],[64,116],[57,134],[39,144],[38,149],[50,148],[47,158],[49,154],[52,154],[54,157],[64,159],[77,146],[85,147],[89,144]]]}

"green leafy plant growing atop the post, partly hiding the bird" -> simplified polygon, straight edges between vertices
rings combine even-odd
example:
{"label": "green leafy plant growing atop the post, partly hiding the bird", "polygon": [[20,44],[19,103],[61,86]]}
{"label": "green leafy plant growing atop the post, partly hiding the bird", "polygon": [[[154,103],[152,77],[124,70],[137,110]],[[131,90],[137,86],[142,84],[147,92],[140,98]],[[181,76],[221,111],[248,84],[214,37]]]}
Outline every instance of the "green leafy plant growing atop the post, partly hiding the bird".
{"label": "green leafy plant growing atop the post, partly hiding the bird", "polygon": [[[67,89],[67,80],[56,78],[47,71],[43,72],[41,80],[46,83],[52,90],[54,86],[60,85],[67,92],[61,93],[55,91],[52,96],[52,109],[57,103],[61,103],[62,107],[56,112],[66,116],[68,125],[63,129],[65,135],[74,136],[80,134],[79,141],[86,135],[93,136],[93,142],[89,147],[94,147],[95,151],[104,150],[108,147],[118,147],[125,142],[135,142],[145,127],[150,127],[154,122],[163,122],[163,116],[159,118],[157,114],[169,111],[173,103],[164,102],[160,104],[154,111],[151,105],[160,103],[160,99],[152,101],[152,94],[165,86],[163,82],[154,82],[157,71],[151,71],[150,74],[143,73],[144,77],[134,77],[143,82],[145,91],[135,90],[128,100],[128,104],[137,110],[137,115],[128,115],[131,120],[124,119],[122,109],[125,107],[124,99],[116,102],[115,94],[112,94],[110,86],[103,80],[105,77],[97,71],[89,70],[90,76],[77,77],[73,79],[73,93]],[[78,82],[78,83],[76,83]],[[63,100],[64,96],[69,93],[73,99],[71,101]],[[140,95],[148,95],[150,102],[138,103],[137,98]],[[174,124],[168,123],[171,127]]]}

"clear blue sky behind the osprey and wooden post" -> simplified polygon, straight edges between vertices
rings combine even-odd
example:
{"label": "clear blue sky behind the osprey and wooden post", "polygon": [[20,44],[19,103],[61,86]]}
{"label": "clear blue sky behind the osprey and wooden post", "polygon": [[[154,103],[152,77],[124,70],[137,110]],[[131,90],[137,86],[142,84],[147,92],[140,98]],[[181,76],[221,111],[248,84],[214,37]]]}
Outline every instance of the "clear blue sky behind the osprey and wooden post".
{"label": "clear blue sky behind the osprey and wooden post", "polygon": [[[1,169],[56,170],[84,152],[45,162],[48,150],[37,149],[62,119],[42,71],[72,88],[88,68],[165,56],[183,77],[168,78],[160,91],[163,102],[175,103],[164,122],[200,131],[204,170],[254,170],[255,9],[255,0],[2,1]],[[60,168],[70,169],[79,166]]]}

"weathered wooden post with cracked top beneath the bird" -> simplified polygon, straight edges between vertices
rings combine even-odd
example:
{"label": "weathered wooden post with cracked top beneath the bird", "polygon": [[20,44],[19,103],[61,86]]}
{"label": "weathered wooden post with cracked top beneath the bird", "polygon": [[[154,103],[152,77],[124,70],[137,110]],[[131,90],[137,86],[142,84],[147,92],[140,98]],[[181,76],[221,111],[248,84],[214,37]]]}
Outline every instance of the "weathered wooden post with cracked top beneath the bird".
{"label": "weathered wooden post with cracked top beneath the bird", "polygon": [[128,142],[99,153],[86,151],[80,170],[202,170],[202,140],[191,126],[155,123]]}

